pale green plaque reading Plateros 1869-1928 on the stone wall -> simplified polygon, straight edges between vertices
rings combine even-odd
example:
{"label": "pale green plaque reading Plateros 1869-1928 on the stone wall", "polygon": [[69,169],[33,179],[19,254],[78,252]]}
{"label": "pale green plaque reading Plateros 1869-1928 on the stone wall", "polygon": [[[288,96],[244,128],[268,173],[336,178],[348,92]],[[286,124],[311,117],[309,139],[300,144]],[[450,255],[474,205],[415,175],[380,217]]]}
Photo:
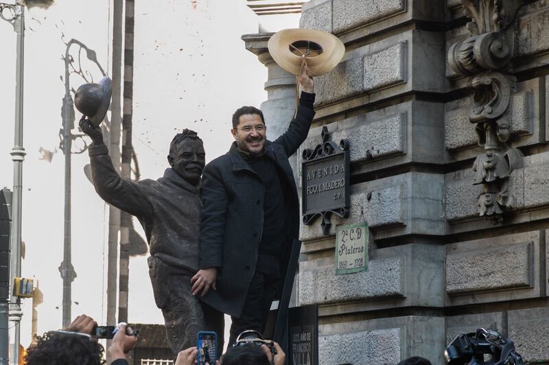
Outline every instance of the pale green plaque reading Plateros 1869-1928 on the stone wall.
{"label": "pale green plaque reading Plateros 1869-1928 on the stone wall", "polygon": [[352,274],[368,268],[368,224],[336,227],[336,275]]}

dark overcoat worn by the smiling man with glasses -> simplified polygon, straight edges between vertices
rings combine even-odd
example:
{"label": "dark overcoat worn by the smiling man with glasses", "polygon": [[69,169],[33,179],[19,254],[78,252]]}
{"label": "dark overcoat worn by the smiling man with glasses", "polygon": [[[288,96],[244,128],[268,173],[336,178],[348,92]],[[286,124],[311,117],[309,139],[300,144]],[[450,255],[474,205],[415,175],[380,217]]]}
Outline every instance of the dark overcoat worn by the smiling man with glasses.
{"label": "dark overcoat worn by the smiling man with glasses", "polygon": [[[274,142],[265,142],[266,158],[284,181],[285,229],[279,255],[284,282],[293,240],[299,237],[299,200],[288,158],[307,138],[314,110],[299,105],[288,130]],[[236,142],[225,155],[211,161],[202,173],[202,226],[200,268],[219,268],[217,290],[202,300],[217,310],[239,317],[255,273],[264,225],[263,181],[237,151]]]}

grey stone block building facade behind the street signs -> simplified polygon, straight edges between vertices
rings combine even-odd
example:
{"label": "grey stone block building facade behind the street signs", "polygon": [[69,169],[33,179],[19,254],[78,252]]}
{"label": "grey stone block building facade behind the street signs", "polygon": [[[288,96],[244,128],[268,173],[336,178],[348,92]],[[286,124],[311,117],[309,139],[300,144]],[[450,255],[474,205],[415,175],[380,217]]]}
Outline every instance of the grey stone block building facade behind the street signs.
{"label": "grey stone block building facade behind the street signs", "polygon": [[[296,301],[319,305],[320,364],[412,355],[443,364],[446,345],[479,327],[511,338],[525,361],[549,364],[549,3],[488,5],[303,5],[301,27],[347,47],[316,78],[316,118],[301,147],[322,142],[323,126],[351,144],[349,218],[332,218],[328,236],[320,220],[301,227]],[[273,138],[295,108],[295,78],[270,58],[271,35],[243,40],[268,67],[262,108],[277,123]],[[335,226],[363,220],[368,270],[336,276]]]}

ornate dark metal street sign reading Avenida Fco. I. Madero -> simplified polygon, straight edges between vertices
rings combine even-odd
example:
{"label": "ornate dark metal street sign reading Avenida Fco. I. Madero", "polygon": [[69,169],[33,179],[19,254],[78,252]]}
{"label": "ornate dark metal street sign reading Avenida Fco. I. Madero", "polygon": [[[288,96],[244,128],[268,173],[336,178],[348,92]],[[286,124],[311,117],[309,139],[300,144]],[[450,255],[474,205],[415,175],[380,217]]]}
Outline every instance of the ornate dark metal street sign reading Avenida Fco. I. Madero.
{"label": "ornate dark metal street sign reading Avenida Fco. I. Madero", "polygon": [[[349,216],[349,141],[339,144],[329,141],[327,127],[322,130],[323,142],[314,149],[303,150],[303,223],[312,225],[322,217],[323,234],[329,235],[331,215],[340,218]],[[312,184],[314,183],[314,184]]]}

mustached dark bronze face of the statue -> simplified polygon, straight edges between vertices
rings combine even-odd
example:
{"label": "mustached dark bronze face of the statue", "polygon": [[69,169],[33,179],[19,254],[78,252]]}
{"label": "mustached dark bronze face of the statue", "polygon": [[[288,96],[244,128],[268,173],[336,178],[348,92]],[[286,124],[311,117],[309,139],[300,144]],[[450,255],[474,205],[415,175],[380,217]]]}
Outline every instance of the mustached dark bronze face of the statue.
{"label": "mustached dark bronze face of the statue", "polygon": [[204,145],[200,140],[185,138],[170,151],[168,162],[180,177],[189,184],[196,185],[200,181],[202,170],[206,164]]}

